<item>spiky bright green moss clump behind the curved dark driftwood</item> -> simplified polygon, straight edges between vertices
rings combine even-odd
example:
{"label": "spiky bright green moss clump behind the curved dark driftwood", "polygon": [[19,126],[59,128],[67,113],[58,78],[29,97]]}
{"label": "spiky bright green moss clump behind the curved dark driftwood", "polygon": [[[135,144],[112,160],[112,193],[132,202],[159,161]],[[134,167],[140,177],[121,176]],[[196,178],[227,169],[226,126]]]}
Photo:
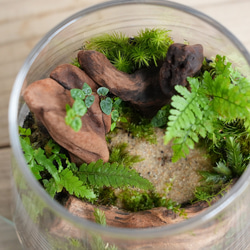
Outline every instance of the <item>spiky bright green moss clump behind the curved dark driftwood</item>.
{"label": "spiky bright green moss clump behind the curved dark driftwood", "polygon": [[169,30],[155,28],[140,30],[134,37],[120,32],[105,33],[91,38],[84,47],[103,53],[118,70],[133,73],[140,68],[158,66],[172,43]]}

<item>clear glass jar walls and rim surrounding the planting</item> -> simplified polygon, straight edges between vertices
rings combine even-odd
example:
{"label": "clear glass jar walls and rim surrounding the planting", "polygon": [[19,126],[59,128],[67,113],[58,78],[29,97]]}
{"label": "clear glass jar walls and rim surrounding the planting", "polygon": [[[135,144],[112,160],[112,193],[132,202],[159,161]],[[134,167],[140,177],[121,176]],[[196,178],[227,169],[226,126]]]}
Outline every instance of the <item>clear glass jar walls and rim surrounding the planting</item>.
{"label": "clear glass jar walls and rim surrounding the planting", "polygon": [[[250,244],[250,169],[218,202],[194,218],[159,228],[102,227],[70,214],[46,193],[25,162],[18,126],[28,114],[22,92],[48,77],[59,64],[70,63],[87,40],[104,32],[133,36],[143,28],[171,30],[175,42],[202,44],[208,58],[227,56],[250,76],[250,56],[219,23],[189,7],[168,1],[111,1],[64,20],[36,45],[21,68],[9,106],[12,145],[13,220],[24,249],[246,249]],[[60,230],[58,230],[60,228]],[[106,249],[105,248],[105,249]]]}

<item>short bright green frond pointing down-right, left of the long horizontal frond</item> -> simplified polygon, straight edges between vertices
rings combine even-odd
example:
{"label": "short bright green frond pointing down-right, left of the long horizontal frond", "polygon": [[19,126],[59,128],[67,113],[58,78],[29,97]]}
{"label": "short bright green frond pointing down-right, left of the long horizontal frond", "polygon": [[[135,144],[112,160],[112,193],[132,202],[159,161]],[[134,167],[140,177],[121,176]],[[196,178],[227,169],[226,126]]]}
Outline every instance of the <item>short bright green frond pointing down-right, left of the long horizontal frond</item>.
{"label": "short bright green frond pointing down-right, left of the long horizontal frond", "polygon": [[68,168],[65,168],[60,173],[60,178],[60,184],[65,187],[69,194],[75,195],[78,198],[94,199],[96,197],[93,190],[83,185],[83,182],[77,176],[74,176]]}

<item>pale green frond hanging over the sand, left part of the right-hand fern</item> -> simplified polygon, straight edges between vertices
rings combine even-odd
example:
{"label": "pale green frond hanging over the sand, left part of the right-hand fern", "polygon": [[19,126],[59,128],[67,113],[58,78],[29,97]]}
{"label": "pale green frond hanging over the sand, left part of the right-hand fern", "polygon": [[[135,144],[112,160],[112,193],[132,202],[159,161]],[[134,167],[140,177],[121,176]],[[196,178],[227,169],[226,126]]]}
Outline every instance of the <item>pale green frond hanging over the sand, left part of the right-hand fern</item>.
{"label": "pale green frond hanging over the sand, left part of the right-hand fern", "polygon": [[189,78],[191,91],[183,86],[176,86],[176,91],[181,94],[172,98],[172,107],[168,117],[168,127],[164,142],[173,141],[173,158],[177,161],[189,153],[189,148],[199,141],[199,136],[205,138],[212,130],[211,112],[207,109],[209,100],[199,91],[200,82],[196,78]]}

